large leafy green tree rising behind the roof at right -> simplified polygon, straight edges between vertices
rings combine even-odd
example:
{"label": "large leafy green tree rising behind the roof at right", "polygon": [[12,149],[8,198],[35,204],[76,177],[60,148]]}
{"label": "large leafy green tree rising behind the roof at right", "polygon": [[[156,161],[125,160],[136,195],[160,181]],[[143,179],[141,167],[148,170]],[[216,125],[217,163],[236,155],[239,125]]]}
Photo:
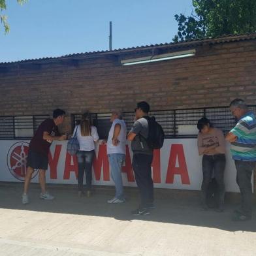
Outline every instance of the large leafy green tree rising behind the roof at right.
{"label": "large leafy green tree rising behind the roof at right", "polygon": [[190,16],[174,16],[174,42],[256,31],[256,0],[193,0],[192,5]]}

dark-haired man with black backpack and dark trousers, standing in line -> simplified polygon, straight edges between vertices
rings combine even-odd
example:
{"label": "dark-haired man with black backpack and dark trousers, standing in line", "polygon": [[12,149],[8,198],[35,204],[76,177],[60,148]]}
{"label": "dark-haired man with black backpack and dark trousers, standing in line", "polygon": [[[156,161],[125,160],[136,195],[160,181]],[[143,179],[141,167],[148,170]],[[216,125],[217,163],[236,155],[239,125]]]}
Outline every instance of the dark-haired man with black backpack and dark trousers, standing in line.
{"label": "dark-haired man with black backpack and dark trousers, standing in line", "polygon": [[152,160],[153,149],[163,146],[164,133],[161,125],[148,116],[150,105],[146,101],[137,103],[135,123],[127,135],[133,150],[133,170],[140,191],[140,206],[133,215],[148,215],[153,205]]}

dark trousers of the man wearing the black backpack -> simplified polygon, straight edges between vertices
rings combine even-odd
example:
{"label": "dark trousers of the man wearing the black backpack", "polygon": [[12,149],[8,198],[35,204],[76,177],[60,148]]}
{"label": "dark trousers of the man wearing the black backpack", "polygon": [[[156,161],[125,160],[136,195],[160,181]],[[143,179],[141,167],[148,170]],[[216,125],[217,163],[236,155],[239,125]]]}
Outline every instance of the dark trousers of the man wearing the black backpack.
{"label": "dark trousers of the man wearing the black backpack", "polygon": [[140,191],[140,208],[147,208],[153,204],[152,160],[153,155],[143,153],[133,155],[133,170]]}

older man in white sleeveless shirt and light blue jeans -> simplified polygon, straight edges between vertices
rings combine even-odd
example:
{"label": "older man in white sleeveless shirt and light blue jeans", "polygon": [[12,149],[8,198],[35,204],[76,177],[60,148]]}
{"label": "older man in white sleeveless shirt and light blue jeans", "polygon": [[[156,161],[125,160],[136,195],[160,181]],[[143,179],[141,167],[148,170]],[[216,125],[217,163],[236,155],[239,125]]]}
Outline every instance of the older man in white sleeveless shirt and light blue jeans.
{"label": "older man in white sleeveless shirt and light blue jeans", "polygon": [[110,121],[112,122],[112,126],[108,133],[106,150],[111,168],[111,178],[116,187],[116,195],[114,198],[108,200],[108,203],[116,204],[125,202],[121,167],[123,161],[125,161],[126,125],[125,121],[122,120],[120,111],[113,111]]}

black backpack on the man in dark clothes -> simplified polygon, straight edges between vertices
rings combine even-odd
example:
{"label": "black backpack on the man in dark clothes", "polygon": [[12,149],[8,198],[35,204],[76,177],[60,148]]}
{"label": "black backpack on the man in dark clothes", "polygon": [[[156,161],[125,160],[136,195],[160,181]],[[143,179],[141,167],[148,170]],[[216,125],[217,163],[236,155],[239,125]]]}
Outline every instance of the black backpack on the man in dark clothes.
{"label": "black backpack on the man in dark clothes", "polygon": [[165,140],[165,133],[163,132],[163,128],[157,121],[155,121],[155,117],[152,116],[144,116],[146,120],[148,120],[148,138],[146,141],[148,146],[153,149],[158,149],[163,147],[163,141]]}

